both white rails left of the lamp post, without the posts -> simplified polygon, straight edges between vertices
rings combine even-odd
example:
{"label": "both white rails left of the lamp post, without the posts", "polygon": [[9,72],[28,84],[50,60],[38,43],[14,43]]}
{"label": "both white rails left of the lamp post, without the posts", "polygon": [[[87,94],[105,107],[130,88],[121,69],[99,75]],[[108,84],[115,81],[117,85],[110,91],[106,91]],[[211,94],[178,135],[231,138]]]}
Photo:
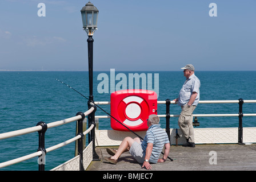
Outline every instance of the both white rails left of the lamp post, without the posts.
{"label": "both white rails left of the lamp post, without the posts", "polygon": [[[91,107],[89,110],[87,110],[83,114],[85,114],[85,116],[87,116],[90,113],[92,113],[93,111],[94,111],[94,107]],[[79,119],[82,119],[81,115],[77,115],[75,117],[63,119],[61,121],[51,122],[51,123],[47,124],[47,128],[49,129],[51,127],[57,127],[57,126],[60,126],[60,125],[65,125],[65,124],[73,122],[73,121],[78,121]],[[94,127],[94,125],[92,124],[89,127],[89,129],[87,129],[86,131],[83,132],[83,135],[88,134],[93,129],[93,127]],[[29,134],[29,133],[33,133],[33,132],[41,131],[41,130],[42,130],[42,126],[38,125],[38,126],[34,126],[34,127],[29,127],[27,129],[10,131],[10,132],[7,132],[7,133],[0,134],[0,140],[1,139],[6,139],[6,138],[11,138],[11,137],[17,137],[19,135],[25,135],[25,134]],[[62,142],[62,143],[56,144],[55,146],[46,148],[46,152],[50,152],[50,151],[56,150],[60,147],[66,146],[67,144],[70,144],[70,143],[72,143],[75,140],[78,140],[80,138],[81,138],[81,135],[77,135],[76,137],[71,138],[69,140],[66,140],[65,142]],[[17,159],[9,160],[7,162],[0,163],[0,168],[7,167],[7,166],[10,166],[10,165],[22,162],[24,160],[29,160],[29,159],[34,158],[36,156],[41,156],[41,155],[42,155],[42,151],[37,151],[37,152],[34,152],[33,154],[22,156],[21,158],[17,158]]]}

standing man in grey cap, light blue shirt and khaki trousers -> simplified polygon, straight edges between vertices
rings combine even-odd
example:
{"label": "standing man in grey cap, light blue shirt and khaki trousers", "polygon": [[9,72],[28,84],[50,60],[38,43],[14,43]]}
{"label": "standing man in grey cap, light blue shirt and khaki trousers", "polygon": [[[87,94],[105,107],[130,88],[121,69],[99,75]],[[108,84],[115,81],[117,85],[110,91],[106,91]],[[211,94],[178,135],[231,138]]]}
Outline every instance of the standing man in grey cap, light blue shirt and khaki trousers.
{"label": "standing man in grey cap, light blue shirt and khaki trousers", "polygon": [[195,147],[194,128],[193,128],[193,111],[199,102],[200,80],[195,76],[195,68],[192,64],[187,64],[183,69],[184,76],[187,78],[183,84],[179,97],[176,98],[175,104],[181,106],[181,115],[179,115],[178,125],[187,142],[184,147]]}

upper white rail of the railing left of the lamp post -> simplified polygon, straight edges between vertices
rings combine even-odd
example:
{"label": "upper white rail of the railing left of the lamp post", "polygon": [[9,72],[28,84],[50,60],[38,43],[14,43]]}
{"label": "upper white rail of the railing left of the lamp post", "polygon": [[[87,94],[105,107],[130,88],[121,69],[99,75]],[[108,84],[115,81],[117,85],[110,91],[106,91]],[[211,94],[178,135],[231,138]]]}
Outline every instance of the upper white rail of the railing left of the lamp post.
{"label": "upper white rail of the railing left of the lamp post", "polygon": [[[94,107],[91,107],[89,110],[87,110],[84,113],[85,116],[89,115],[91,112],[93,112],[93,110],[94,110]],[[61,121],[51,122],[51,123],[47,124],[47,128],[50,129],[51,127],[64,125],[66,123],[77,121],[81,118],[82,118],[81,115],[77,115],[75,117],[63,119]],[[7,132],[7,133],[2,133],[2,134],[0,134],[0,140],[10,138],[10,137],[17,137],[19,135],[25,135],[25,134],[33,133],[35,131],[40,131],[40,130],[42,130],[42,126],[38,125],[38,126],[34,126],[34,127],[29,127],[29,128],[26,128],[26,129],[21,129],[21,130],[10,131],[10,132]]]}

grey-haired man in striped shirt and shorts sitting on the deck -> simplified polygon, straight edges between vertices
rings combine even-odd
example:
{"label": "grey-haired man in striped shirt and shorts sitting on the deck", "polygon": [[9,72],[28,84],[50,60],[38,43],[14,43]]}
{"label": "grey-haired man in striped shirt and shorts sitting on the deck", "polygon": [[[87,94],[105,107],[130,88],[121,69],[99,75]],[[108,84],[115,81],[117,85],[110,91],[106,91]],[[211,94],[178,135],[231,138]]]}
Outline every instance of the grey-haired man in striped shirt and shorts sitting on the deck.
{"label": "grey-haired man in striped shirt and shorts sitting on the deck", "polygon": [[[117,159],[123,152],[129,151],[130,154],[137,160],[138,163],[143,164],[146,169],[151,169],[150,163],[165,162],[170,151],[170,142],[166,132],[161,129],[159,125],[159,117],[151,114],[147,119],[147,133],[143,141],[137,138],[126,137],[123,139],[118,150],[107,148],[107,152],[112,155],[105,158],[105,162],[117,164]],[[163,158],[159,156],[165,146]]]}

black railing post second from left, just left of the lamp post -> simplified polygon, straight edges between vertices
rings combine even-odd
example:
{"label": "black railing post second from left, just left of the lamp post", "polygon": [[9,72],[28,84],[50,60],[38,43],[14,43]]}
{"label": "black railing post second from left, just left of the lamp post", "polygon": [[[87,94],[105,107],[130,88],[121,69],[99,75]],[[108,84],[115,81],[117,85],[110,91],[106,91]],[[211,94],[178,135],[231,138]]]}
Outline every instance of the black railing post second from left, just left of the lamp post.
{"label": "black railing post second from left, just left of the lamp post", "polygon": [[85,171],[83,168],[83,119],[85,119],[85,114],[82,112],[78,112],[76,115],[81,115],[81,119],[78,122],[78,133],[77,135],[81,135],[81,138],[78,139],[78,155],[79,155],[79,171]]}

